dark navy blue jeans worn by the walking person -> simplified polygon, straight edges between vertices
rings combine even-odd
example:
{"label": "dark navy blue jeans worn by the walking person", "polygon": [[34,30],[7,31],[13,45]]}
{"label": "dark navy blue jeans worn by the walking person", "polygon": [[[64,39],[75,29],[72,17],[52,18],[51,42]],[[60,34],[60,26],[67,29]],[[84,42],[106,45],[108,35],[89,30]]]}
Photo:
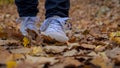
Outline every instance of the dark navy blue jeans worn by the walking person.
{"label": "dark navy blue jeans worn by the walking person", "polygon": [[[38,0],[15,0],[20,17],[34,17],[38,13]],[[70,0],[46,0],[46,18],[52,16],[68,17]]]}

